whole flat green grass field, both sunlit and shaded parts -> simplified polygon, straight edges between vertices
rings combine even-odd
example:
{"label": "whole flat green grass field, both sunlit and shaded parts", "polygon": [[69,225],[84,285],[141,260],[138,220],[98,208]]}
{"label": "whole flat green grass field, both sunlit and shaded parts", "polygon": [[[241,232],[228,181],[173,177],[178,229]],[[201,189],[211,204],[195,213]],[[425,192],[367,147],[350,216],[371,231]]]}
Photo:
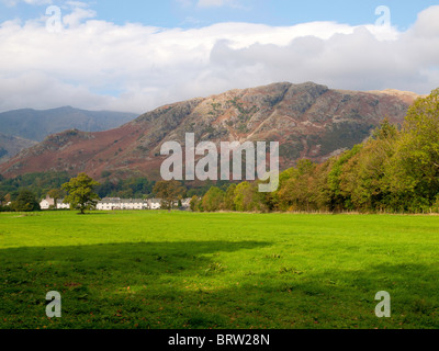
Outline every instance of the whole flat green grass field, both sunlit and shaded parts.
{"label": "whole flat green grass field, both sunlit and shaded parts", "polygon": [[435,216],[1,214],[0,328],[438,328],[438,248]]}

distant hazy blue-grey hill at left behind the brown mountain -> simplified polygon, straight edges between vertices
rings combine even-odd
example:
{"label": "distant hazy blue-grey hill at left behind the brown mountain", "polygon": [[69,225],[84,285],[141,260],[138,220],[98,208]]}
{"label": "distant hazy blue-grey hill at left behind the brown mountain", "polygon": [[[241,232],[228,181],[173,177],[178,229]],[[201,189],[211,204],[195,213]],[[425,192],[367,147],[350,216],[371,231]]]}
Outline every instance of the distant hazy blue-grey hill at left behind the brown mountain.
{"label": "distant hazy blue-grey hill at left behind the brown mountain", "polygon": [[52,110],[14,110],[0,113],[0,132],[29,140],[43,141],[47,135],[76,128],[101,132],[119,127],[137,114],[86,111],[70,106]]}

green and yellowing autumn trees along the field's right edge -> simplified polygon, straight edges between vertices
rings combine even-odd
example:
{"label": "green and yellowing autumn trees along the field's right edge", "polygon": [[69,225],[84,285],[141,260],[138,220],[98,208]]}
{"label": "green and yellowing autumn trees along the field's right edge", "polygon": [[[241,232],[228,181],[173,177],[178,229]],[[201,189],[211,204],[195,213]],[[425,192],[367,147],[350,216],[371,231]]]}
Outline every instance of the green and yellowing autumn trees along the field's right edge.
{"label": "green and yellowing autumn trees along the field's right edge", "polygon": [[193,196],[200,212],[430,213],[439,211],[439,89],[409,107],[402,127],[385,118],[363,144],[317,165],[303,159],[279,189],[213,186]]}

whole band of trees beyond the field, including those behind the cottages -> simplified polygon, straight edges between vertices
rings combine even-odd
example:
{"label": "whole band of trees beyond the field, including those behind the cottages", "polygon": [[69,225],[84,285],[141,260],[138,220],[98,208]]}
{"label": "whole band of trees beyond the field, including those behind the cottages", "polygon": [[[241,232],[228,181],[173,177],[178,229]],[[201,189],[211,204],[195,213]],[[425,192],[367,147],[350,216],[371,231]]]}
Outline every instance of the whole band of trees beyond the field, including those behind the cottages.
{"label": "whole band of trees beyond the field, including those behind the cottages", "polygon": [[[365,143],[339,156],[323,163],[299,160],[280,174],[273,193],[260,193],[259,182],[206,182],[189,188],[145,178],[111,181],[110,176],[105,172],[103,183],[93,183],[93,200],[157,196],[171,208],[173,202],[192,197],[194,212],[439,212],[439,89],[416,100],[401,127],[385,118]],[[61,186],[67,181],[66,173],[12,180],[0,176],[0,211],[35,211],[43,193],[68,195],[71,189]],[[7,201],[12,201],[12,207],[4,206]]]}

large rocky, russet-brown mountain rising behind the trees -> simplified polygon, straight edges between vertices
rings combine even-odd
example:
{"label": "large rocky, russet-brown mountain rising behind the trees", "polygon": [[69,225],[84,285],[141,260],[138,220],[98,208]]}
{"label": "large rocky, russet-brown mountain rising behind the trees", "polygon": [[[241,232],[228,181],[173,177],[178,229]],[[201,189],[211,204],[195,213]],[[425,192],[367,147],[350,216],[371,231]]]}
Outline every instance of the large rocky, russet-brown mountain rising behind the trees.
{"label": "large rocky, russet-brown mountain rising behind the trees", "polygon": [[[45,170],[80,171],[100,179],[116,177],[159,179],[160,146],[184,145],[185,133],[196,143],[280,141],[281,167],[299,158],[323,161],[367,139],[387,116],[402,123],[416,94],[392,91],[331,90],[312,82],[273,83],[232,90],[161,106],[106,132],[77,129],[48,136],[0,165],[0,173],[14,177]],[[106,172],[108,173],[108,172]]]}

